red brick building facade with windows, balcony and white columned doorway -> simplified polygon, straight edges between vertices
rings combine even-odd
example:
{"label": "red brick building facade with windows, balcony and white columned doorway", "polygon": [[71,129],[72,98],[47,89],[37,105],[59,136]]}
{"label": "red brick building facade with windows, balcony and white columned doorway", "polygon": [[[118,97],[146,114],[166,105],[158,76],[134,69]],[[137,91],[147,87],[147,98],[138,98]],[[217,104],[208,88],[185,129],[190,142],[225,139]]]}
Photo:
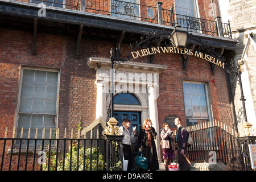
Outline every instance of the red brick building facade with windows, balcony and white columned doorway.
{"label": "red brick building facade with windows, balcony and white columned doorway", "polygon": [[[218,6],[213,6],[216,1],[185,1],[187,4],[162,1],[162,23],[158,19],[160,15],[155,17],[156,11],[152,11],[154,17],[147,13],[147,18],[143,19],[133,15],[119,17],[113,12],[110,16],[106,12],[110,10],[94,11],[86,1],[85,11],[80,10],[80,2],[70,7],[67,6],[71,3],[69,1],[65,1],[65,6],[52,3],[52,6],[45,7],[35,2],[0,1],[1,138],[6,127],[8,137],[13,135],[14,127],[16,137],[20,137],[22,127],[23,137],[26,137],[29,127],[33,130],[31,135],[35,135],[35,127],[38,127],[40,137],[43,127],[49,133],[56,124],[60,137],[63,137],[65,129],[70,135],[71,129],[76,129],[79,123],[85,128],[99,116],[106,121],[109,93],[101,91],[103,94],[100,95],[100,89],[110,84],[110,49],[121,44],[122,56],[125,57],[130,44],[140,41],[140,37],[148,32],[163,29],[172,32],[174,24],[168,19],[171,15],[166,13],[166,10],[170,13],[172,7],[175,19],[182,14],[197,17],[197,23],[200,20],[201,29],[193,29],[188,23],[182,24],[184,16],[177,18],[181,28],[187,28],[193,35],[208,41],[216,52],[225,56],[237,44],[237,40],[227,38],[223,32],[220,34],[224,29],[216,26],[218,19],[213,17],[219,15]],[[93,3],[96,2],[90,1],[89,4]],[[155,1],[139,3],[148,6],[145,10],[158,5]],[[101,6],[107,7],[104,3]],[[121,5],[119,8],[122,12]],[[39,16],[40,10],[45,11],[46,16]],[[140,10],[142,14],[143,8]],[[214,25],[209,31],[206,30],[212,25],[207,20]],[[191,23],[192,19],[189,21]],[[184,126],[213,120],[232,126],[233,108],[226,71],[219,66],[211,67],[209,61],[196,56],[189,56],[184,68],[182,56],[180,53],[159,53],[155,57],[144,56],[121,64],[115,70],[116,75],[155,74],[156,84],[146,84],[143,93],[131,93],[139,100],[139,106],[116,104],[115,111],[123,111],[126,115],[137,112],[138,128],[144,119],[151,118],[159,135],[168,115],[180,117]],[[106,80],[101,78],[101,73],[105,74]],[[139,79],[142,88],[143,78]],[[129,81],[125,83],[129,84]],[[150,89],[158,92],[156,100],[150,98]],[[121,92],[126,93],[127,89],[117,90],[116,94]],[[125,98],[122,98],[123,102]],[[157,141],[160,150],[160,139]]]}

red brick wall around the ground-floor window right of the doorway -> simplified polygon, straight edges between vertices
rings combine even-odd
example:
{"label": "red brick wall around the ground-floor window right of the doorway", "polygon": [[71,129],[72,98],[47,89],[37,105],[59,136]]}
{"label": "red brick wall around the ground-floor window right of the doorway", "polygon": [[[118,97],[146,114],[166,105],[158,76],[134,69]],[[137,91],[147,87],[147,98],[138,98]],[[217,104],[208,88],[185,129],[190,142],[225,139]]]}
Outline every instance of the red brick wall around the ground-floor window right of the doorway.
{"label": "red brick wall around the ground-floor window right of the doorway", "polygon": [[224,69],[217,67],[214,74],[210,63],[197,57],[189,57],[187,69],[183,71],[181,55],[157,55],[156,64],[164,64],[168,69],[159,74],[158,117],[162,128],[167,115],[177,115],[185,123],[183,80],[206,82],[209,85],[209,97],[213,119],[232,124],[228,86]]}

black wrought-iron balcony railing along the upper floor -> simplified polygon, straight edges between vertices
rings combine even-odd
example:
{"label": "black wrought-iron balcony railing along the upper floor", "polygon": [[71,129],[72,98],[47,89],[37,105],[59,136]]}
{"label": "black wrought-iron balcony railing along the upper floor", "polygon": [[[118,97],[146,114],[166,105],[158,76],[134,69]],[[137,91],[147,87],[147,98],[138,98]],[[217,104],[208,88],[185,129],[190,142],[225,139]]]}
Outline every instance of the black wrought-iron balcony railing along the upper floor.
{"label": "black wrought-iron balcony railing along the upper floor", "polygon": [[174,27],[176,22],[179,26],[191,32],[232,38],[230,24],[220,22],[220,16],[214,20],[195,18],[187,15],[175,14],[173,7],[162,9],[162,2],[155,5],[142,5],[138,0],[17,0],[29,3],[44,3],[46,6],[61,7],[85,11],[94,14],[115,16],[118,18],[133,19],[142,22],[151,22]]}

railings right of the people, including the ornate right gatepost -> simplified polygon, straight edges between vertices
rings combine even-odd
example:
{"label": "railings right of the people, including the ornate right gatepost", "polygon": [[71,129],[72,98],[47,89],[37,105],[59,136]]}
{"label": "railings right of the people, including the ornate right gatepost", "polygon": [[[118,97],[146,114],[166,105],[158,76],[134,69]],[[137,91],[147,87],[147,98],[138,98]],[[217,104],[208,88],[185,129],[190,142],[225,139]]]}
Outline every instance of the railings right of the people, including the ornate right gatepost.
{"label": "railings right of the people, including the ornate right gatepost", "polygon": [[249,144],[256,144],[256,137],[236,137],[236,131],[216,121],[189,126],[187,130],[193,138],[193,144],[188,147],[191,162],[228,164],[231,158],[238,157],[247,171],[255,171],[251,168]]}

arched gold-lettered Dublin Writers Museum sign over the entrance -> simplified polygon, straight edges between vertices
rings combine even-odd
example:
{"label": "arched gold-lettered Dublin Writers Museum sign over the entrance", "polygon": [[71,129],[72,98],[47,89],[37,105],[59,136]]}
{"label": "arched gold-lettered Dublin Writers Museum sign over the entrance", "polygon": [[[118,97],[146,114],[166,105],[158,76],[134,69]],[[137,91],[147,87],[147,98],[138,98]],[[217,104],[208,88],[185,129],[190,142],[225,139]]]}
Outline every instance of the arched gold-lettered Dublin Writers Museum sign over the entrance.
{"label": "arched gold-lettered Dublin Writers Museum sign over the entrance", "polygon": [[224,68],[225,63],[223,63],[221,60],[216,59],[216,57],[210,56],[207,53],[193,51],[193,49],[188,49],[188,48],[177,48],[177,47],[172,47],[172,46],[151,47],[151,48],[140,49],[138,51],[133,51],[133,52],[131,52],[131,55],[133,56],[133,59],[136,59],[138,57],[154,55],[157,53],[179,53],[179,54],[183,54],[183,55],[195,56],[195,57],[204,59],[206,61],[209,61],[210,63],[213,63],[213,64],[225,69]]}

